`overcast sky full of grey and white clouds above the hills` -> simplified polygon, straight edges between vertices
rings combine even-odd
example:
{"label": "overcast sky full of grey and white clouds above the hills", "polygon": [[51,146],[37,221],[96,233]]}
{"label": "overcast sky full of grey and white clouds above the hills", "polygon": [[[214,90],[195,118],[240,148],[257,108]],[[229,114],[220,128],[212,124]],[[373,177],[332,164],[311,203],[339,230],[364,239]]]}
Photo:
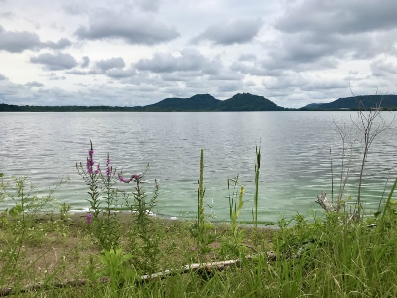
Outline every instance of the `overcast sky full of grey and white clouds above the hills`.
{"label": "overcast sky full of grey and white clouds above the hills", "polygon": [[0,0],[0,103],[397,94],[396,13],[397,0]]}

